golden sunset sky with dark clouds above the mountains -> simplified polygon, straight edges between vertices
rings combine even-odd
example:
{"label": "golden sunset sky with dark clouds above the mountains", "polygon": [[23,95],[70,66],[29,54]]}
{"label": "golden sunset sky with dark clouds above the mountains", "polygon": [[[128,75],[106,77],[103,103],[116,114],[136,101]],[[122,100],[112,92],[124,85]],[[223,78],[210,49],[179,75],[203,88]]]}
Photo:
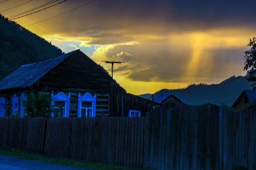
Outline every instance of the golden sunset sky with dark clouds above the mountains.
{"label": "golden sunset sky with dark clouds above the mountains", "polygon": [[[0,0],[0,13],[8,17],[45,2]],[[245,75],[243,53],[256,30],[255,0],[97,0],[31,25],[87,2],[67,0],[14,21],[64,52],[80,49],[109,72],[103,60],[124,61],[114,65],[114,79],[133,94]]]}

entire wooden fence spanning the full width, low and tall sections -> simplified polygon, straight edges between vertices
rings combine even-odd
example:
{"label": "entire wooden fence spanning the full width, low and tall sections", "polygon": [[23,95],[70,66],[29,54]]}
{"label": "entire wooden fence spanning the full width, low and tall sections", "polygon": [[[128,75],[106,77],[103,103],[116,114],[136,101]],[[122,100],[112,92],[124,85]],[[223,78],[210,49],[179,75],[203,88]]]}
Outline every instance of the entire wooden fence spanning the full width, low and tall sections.
{"label": "entire wooden fence spanning the full width, low and tall sections", "polygon": [[155,169],[256,169],[256,108],[155,109],[145,118],[1,118],[0,147]]}

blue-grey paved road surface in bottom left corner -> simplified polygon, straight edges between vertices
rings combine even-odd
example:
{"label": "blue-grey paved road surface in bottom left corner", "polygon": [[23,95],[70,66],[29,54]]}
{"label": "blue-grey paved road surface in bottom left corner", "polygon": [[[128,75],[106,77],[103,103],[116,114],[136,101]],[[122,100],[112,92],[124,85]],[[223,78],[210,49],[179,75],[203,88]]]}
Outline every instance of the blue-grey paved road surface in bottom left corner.
{"label": "blue-grey paved road surface in bottom left corner", "polygon": [[72,168],[70,166],[55,165],[51,163],[38,162],[36,160],[25,160],[25,159],[19,159],[16,157],[0,155],[0,169],[1,170],[28,170],[28,169],[31,169],[31,170],[33,169],[78,170],[80,168]]}

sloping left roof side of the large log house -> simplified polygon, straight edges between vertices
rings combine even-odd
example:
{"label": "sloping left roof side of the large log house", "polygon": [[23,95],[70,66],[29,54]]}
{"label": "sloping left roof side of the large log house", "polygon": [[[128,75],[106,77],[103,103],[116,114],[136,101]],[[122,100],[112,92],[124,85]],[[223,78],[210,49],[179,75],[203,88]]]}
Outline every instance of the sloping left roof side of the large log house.
{"label": "sloping left roof side of the large log house", "polygon": [[78,50],[45,61],[22,65],[0,81],[0,91],[31,87],[41,77],[52,70],[52,68],[56,67],[60,62],[64,61],[64,59],[73,55],[76,51]]}

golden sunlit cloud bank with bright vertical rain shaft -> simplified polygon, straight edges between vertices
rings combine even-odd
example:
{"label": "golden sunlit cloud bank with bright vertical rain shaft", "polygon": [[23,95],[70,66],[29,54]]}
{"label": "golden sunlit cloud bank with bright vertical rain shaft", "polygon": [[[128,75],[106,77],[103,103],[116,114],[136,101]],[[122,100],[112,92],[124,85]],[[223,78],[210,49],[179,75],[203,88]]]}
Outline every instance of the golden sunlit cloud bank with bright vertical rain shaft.
{"label": "golden sunlit cloud bank with bright vertical rain shaft", "polygon": [[135,81],[213,83],[243,74],[241,56],[251,35],[252,31],[231,28],[173,34],[163,36],[163,41],[141,35],[137,44],[118,44],[105,48],[104,55],[95,54],[114,61],[128,59],[115,66],[115,73]]}

